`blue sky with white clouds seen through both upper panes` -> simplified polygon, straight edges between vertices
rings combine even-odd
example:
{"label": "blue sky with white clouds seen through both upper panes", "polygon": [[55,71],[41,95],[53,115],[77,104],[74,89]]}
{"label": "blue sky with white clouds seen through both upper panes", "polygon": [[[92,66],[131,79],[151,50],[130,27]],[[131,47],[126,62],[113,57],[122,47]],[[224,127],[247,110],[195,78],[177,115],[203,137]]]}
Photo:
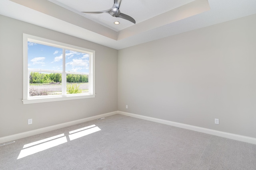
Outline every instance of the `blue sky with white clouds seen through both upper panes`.
{"label": "blue sky with white clouds seen through both upper panes", "polygon": [[[89,55],[66,50],[66,72],[89,72]],[[62,70],[62,49],[28,41],[28,68]]]}

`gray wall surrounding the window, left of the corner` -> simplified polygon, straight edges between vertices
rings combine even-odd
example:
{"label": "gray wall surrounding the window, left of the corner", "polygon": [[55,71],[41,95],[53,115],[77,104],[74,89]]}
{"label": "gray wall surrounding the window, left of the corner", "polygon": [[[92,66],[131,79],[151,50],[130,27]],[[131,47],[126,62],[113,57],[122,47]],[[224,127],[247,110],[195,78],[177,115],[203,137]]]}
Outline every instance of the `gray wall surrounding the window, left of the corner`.
{"label": "gray wall surrounding the window, left of the corner", "polygon": [[[22,34],[96,51],[96,97],[23,105]],[[117,50],[0,16],[0,137],[117,110]],[[28,119],[33,124],[28,125]]]}

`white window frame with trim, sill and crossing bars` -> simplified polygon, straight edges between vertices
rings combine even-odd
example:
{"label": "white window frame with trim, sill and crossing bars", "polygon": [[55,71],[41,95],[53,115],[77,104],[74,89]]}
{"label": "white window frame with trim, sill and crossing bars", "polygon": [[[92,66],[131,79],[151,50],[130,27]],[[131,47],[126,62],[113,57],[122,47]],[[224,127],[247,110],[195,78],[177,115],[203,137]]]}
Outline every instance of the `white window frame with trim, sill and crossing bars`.
{"label": "white window frame with trim, sill and crossing bars", "polygon": [[[89,57],[89,93],[86,94],[66,94],[66,86],[65,83],[62,83],[62,93],[61,95],[52,95],[52,96],[29,96],[29,71],[37,71],[37,72],[47,72],[46,70],[33,69],[28,70],[28,41],[34,43],[40,43],[43,45],[48,45],[52,47],[62,48],[63,50],[63,69],[60,73],[62,73],[62,82],[66,82],[66,76],[64,74],[73,73],[66,72],[65,70],[65,50],[78,51],[81,53],[87,53],[90,55]],[[58,72],[58,71],[51,71]],[[80,73],[73,73],[80,74]],[[74,99],[84,99],[84,98],[94,98],[95,97],[95,51],[90,49],[85,49],[82,47],[77,47],[74,45],[69,45],[66,43],[61,43],[58,41],[53,41],[50,39],[45,39],[41,37],[36,37],[34,35],[28,35],[23,33],[23,104],[33,104],[33,103],[42,103],[42,102],[55,102],[62,100],[74,100]]]}

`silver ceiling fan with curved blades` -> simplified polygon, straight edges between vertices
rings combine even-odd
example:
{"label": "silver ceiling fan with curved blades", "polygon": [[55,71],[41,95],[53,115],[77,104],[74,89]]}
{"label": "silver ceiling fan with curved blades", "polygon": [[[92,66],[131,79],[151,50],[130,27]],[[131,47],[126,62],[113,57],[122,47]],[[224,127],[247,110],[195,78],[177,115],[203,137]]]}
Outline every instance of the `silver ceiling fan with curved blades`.
{"label": "silver ceiling fan with curved blades", "polygon": [[112,15],[113,17],[123,18],[125,20],[131,21],[132,23],[136,23],[136,21],[132,17],[120,12],[119,8],[121,5],[121,2],[122,2],[122,0],[114,0],[114,5],[109,10],[98,11],[98,12],[84,12],[84,13],[87,13],[87,14],[108,13],[108,14]]}

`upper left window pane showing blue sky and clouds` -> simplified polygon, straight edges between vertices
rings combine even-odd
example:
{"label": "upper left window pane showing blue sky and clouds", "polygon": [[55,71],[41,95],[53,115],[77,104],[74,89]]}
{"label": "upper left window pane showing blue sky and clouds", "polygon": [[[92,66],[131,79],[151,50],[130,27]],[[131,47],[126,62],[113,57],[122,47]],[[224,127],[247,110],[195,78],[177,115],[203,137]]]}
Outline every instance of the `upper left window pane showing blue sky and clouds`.
{"label": "upper left window pane showing blue sky and clouds", "polygon": [[28,69],[62,70],[62,49],[28,41]]}

